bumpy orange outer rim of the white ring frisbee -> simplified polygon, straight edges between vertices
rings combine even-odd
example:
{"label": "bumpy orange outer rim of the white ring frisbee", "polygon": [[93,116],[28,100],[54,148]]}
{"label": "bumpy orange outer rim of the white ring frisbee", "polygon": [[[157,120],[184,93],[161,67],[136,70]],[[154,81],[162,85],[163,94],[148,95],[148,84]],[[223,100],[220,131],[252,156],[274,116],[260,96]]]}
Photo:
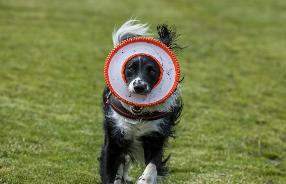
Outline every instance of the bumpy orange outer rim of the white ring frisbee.
{"label": "bumpy orange outer rim of the white ring frisbee", "polygon": [[[110,85],[110,81],[109,81],[109,77],[108,77],[108,67],[109,67],[109,64],[110,64],[110,61],[112,59],[112,57],[114,56],[114,54],[116,54],[116,52],[122,48],[123,46],[126,46],[127,44],[131,44],[131,43],[134,43],[134,42],[147,42],[147,43],[152,43],[154,45],[157,45],[159,47],[161,47],[163,50],[166,51],[166,53],[170,56],[170,58],[172,58],[172,61],[174,63],[174,66],[175,66],[175,70],[176,70],[176,80],[172,86],[172,89],[170,90],[170,92],[165,96],[163,97],[162,99],[156,101],[156,102],[153,102],[153,103],[147,103],[147,104],[138,104],[138,103],[133,103],[133,102],[129,102],[125,99],[123,99],[122,97],[120,97],[115,91],[114,89],[112,88],[112,86]],[[118,98],[119,100],[121,100],[122,102],[124,103],[127,103],[129,105],[133,105],[133,106],[138,106],[138,107],[149,107],[149,106],[153,106],[153,105],[157,105],[159,103],[162,103],[164,102],[166,99],[168,99],[174,92],[175,90],[177,89],[177,86],[179,84],[179,81],[180,81],[180,67],[179,67],[179,63],[178,63],[178,60],[175,56],[175,54],[172,52],[172,50],[166,46],[165,44],[163,44],[161,41],[158,41],[154,38],[148,38],[148,37],[136,37],[136,38],[129,38],[128,40],[124,40],[123,42],[121,42],[120,44],[118,44],[116,47],[114,47],[112,49],[112,51],[109,53],[107,59],[106,59],[106,62],[105,62],[105,65],[104,65],[104,78],[105,78],[105,81],[106,81],[106,85],[108,87],[108,89],[112,92],[112,94]],[[125,81],[125,80],[124,80]],[[157,84],[158,85],[158,84]]]}

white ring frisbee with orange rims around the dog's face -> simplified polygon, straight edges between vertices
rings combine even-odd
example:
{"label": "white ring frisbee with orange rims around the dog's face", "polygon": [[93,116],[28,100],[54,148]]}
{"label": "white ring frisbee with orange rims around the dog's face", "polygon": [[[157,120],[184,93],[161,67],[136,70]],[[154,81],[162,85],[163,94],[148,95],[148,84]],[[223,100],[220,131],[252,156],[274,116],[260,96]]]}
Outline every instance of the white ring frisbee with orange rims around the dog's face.
{"label": "white ring frisbee with orange rims around the dog's face", "polygon": [[[160,77],[148,95],[130,93],[124,77],[126,63],[133,57],[152,57],[160,68]],[[104,78],[112,94],[124,103],[148,107],[168,99],[180,80],[180,67],[172,50],[162,42],[148,37],[129,38],[118,44],[108,55]]]}

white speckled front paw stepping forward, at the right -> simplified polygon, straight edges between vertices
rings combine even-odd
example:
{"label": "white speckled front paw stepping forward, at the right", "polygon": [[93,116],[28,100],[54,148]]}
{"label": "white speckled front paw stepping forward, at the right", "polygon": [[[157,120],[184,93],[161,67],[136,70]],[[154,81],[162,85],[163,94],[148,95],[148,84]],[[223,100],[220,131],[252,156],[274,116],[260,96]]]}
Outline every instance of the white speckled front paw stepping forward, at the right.
{"label": "white speckled front paw stepping forward, at the right", "polygon": [[146,166],[143,174],[139,177],[137,184],[153,184],[157,178],[156,166],[152,163],[149,163]]}

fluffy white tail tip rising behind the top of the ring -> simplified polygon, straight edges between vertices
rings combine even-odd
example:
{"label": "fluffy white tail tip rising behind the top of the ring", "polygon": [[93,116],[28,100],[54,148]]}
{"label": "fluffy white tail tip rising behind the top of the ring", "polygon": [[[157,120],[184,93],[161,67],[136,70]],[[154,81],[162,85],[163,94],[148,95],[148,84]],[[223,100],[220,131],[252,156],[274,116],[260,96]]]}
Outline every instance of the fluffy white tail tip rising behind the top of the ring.
{"label": "fluffy white tail tip rising behind the top of the ring", "polygon": [[114,47],[128,38],[150,35],[150,33],[148,33],[149,27],[150,25],[141,24],[140,21],[131,18],[129,21],[124,23],[118,30],[114,28],[114,31],[112,33],[112,41]]}

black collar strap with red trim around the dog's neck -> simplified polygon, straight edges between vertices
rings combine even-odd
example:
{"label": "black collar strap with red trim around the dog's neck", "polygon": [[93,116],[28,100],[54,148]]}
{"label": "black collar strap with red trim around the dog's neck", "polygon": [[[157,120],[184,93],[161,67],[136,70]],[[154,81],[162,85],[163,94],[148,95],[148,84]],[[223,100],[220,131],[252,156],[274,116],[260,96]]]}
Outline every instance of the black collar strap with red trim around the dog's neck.
{"label": "black collar strap with red trim around the dog's neck", "polygon": [[164,118],[166,115],[168,115],[168,113],[171,112],[171,110],[167,111],[167,112],[149,112],[149,113],[141,113],[139,115],[135,115],[133,113],[131,113],[130,111],[128,111],[127,109],[125,109],[122,104],[120,103],[120,101],[116,100],[116,98],[114,97],[114,95],[111,95],[110,97],[108,97],[109,100],[106,102],[110,103],[110,106],[112,107],[112,109],[114,111],[116,111],[116,113],[120,114],[121,116],[124,116],[126,118],[130,118],[130,119],[142,119],[142,120],[146,120],[146,121],[152,121],[152,120],[157,120],[160,118]]}

